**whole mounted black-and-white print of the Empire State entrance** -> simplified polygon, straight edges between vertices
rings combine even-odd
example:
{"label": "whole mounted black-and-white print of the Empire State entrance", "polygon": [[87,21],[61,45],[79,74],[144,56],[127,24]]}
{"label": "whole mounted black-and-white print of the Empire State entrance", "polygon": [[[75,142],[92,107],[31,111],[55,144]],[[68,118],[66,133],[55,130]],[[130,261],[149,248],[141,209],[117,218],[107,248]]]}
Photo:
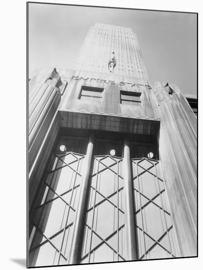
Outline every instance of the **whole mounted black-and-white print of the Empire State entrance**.
{"label": "whole mounted black-and-white print of the Empire State entrance", "polygon": [[198,13],[26,12],[27,268],[197,257]]}

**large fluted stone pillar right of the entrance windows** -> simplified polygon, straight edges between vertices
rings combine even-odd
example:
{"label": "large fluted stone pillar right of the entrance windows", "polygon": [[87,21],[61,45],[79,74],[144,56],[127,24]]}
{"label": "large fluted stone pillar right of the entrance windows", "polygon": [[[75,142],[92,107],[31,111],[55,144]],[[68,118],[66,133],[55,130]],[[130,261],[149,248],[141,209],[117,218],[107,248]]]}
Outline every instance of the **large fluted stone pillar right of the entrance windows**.
{"label": "large fluted stone pillar right of the entrance windows", "polygon": [[178,87],[172,90],[161,89],[159,154],[181,256],[197,256],[197,119]]}

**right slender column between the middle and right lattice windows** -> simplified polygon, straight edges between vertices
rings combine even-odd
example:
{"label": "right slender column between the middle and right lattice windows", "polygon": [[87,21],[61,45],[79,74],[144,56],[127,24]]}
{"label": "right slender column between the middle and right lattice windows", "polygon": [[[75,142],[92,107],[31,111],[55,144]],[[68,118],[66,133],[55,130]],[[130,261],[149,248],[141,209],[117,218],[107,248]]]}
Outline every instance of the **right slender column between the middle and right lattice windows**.
{"label": "right slender column between the middle and right lattice windows", "polygon": [[132,198],[129,142],[124,140],[124,185],[126,197],[127,260],[136,260],[135,224]]}

